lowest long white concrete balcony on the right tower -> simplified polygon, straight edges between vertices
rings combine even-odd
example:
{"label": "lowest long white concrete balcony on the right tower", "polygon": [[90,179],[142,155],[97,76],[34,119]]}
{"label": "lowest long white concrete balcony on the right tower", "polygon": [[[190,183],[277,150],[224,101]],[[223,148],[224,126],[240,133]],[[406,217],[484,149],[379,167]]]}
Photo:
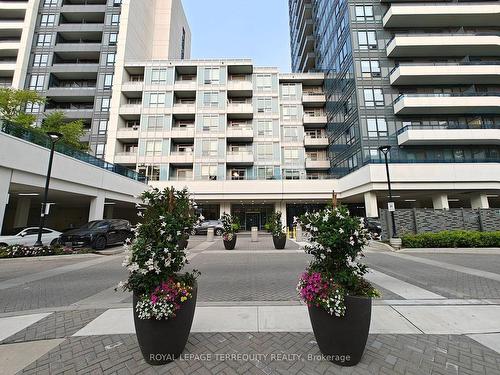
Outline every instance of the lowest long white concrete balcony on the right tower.
{"label": "lowest long white concrete balcony on the right tower", "polygon": [[405,126],[398,132],[400,146],[500,145],[499,129],[454,129],[439,126]]}

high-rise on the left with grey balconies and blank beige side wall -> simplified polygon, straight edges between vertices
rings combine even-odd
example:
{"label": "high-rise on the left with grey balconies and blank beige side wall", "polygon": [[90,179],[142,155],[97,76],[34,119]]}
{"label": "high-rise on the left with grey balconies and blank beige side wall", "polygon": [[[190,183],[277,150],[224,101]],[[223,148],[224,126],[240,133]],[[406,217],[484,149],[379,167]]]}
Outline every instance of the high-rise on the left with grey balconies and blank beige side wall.
{"label": "high-rise on the left with grey balconies and blank beige side wall", "polygon": [[0,1],[0,85],[35,90],[39,113],[82,119],[104,157],[115,71],[131,59],[190,57],[181,0]]}

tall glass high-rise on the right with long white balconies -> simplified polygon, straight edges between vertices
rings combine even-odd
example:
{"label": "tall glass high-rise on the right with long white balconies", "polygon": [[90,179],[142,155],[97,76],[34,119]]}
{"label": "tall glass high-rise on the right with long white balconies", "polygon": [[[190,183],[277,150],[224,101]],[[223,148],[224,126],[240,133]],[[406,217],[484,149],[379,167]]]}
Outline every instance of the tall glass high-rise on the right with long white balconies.
{"label": "tall glass high-rise on the right with long white balconies", "polygon": [[[326,75],[332,176],[376,170],[391,145],[399,207],[498,204],[498,1],[289,0],[289,10],[293,70]],[[387,201],[386,189],[366,191],[370,215],[376,196]]]}

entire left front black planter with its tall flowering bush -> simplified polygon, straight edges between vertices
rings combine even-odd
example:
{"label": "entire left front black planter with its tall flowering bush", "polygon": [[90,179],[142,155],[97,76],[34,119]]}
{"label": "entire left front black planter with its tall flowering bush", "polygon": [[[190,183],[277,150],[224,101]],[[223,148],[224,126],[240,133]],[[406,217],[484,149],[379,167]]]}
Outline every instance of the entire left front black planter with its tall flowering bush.
{"label": "entire left front black planter with its tall flowering bush", "polygon": [[140,198],[142,223],[127,246],[123,265],[133,292],[137,340],[147,363],[161,365],[177,358],[186,345],[196,306],[197,271],[181,273],[187,258],[179,246],[195,221],[186,189],[153,189]]}

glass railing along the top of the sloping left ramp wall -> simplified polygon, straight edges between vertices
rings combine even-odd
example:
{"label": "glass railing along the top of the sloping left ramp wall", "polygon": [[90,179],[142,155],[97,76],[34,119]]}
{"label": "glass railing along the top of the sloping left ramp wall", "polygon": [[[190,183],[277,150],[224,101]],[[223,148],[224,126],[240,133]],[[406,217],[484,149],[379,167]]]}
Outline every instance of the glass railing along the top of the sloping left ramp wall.
{"label": "glass railing along the top of the sloping left ramp wall", "polygon": [[[19,125],[3,122],[0,124],[0,131],[10,136],[36,144],[38,146],[42,146],[47,149],[50,149],[51,147],[51,141],[49,137],[47,137],[44,133],[42,133],[39,130],[27,129]],[[143,176],[137,173],[136,171],[125,168],[121,165],[108,163],[102,159],[98,159],[95,156],[87,154],[86,152],[72,148],[64,143],[57,143],[55,149],[60,154],[72,157],[76,160],[80,160],[87,164],[91,164],[101,169],[105,169],[109,172],[119,174],[120,176],[124,176],[136,181],[147,183],[146,176]]]}

